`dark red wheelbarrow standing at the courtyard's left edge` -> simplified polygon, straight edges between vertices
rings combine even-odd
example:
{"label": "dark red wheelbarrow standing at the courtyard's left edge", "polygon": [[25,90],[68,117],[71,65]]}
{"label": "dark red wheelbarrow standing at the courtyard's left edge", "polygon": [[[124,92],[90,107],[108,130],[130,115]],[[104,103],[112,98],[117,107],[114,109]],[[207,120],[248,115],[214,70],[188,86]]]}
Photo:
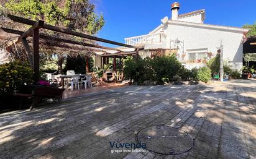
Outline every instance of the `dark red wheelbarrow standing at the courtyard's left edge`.
{"label": "dark red wheelbarrow standing at the courtyard's left edge", "polygon": [[24,98],[33,98],[30,110],[39,103],[43,98],[52,98],[53,100],[62,100],[62,93],[65,89],[43,86],[43,85],[25,85],[21,88],[19,93],[14,93],[14,96],[21,97],[21,102],[19,108],[22,108],[22,101]]}

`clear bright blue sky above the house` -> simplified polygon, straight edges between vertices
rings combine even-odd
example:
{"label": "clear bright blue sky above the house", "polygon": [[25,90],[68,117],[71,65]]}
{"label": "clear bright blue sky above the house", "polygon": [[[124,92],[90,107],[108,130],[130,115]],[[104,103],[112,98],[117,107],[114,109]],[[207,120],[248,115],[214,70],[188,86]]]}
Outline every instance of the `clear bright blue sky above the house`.
{"label": "clear bright blue sky above the house", "polygon": [[[171,17],[170,0],[92,0],[106,24],[98,37],[124,43],[124,38],[144,35]],[[205,24],[242,27],[256,22],[255,0],[180,0],[179,14],[206,9]],[[101,43],[101,45],[107,45]]]}

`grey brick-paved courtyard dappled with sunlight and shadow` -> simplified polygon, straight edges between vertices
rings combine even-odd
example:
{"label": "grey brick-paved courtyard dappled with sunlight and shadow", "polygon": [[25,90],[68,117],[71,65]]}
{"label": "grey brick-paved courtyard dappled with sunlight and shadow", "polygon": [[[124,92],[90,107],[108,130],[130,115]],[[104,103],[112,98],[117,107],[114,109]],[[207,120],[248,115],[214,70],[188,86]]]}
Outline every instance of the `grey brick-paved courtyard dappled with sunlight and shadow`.
{"label": "grey brick-paved courtyard dappled with sunlight and shadow", "polygon": [[[111,153],[141,129],[178,127],[194,139],[181,155]],[[0,114],[0,158],[256,158],[256,80],[130,86]]]}

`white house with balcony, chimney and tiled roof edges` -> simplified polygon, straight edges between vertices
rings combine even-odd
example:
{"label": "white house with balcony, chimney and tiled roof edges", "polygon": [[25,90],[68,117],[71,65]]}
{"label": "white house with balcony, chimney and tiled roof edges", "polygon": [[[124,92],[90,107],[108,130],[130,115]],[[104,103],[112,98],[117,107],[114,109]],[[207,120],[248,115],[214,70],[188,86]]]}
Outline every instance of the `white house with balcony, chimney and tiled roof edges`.
{"label": "white house with balcony, chimney and tiled roof edges", "polygon": [[[164,17],[157,28],[147,35],[125,38],[127,45],[144,47],[139,54],[163,56],[176,53],[188,69],[204,66],[223,46],[224,61],[234,69],[242,67],[242,40],[249,31],[244,28],[204,24],[205,10],[178,14],[180,4],[171,5],[171,19]],[[211,56],[213,54],[213,56]]]}

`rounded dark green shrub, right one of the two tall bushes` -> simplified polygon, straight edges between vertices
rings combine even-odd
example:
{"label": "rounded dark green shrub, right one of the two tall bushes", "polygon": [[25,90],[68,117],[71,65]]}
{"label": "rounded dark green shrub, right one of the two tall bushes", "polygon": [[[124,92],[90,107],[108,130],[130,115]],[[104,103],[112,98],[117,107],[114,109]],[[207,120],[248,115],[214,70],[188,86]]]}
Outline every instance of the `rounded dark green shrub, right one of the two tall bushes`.
{"label": "rounded dark green shrub, right one of the two tall bushes", "polygon": [[178,74],[181,69],[181,63],[174,54],[172,56],[158,57],[153,59],[152,69],[157,84],[164,84],[165,82],[170,82]]}

